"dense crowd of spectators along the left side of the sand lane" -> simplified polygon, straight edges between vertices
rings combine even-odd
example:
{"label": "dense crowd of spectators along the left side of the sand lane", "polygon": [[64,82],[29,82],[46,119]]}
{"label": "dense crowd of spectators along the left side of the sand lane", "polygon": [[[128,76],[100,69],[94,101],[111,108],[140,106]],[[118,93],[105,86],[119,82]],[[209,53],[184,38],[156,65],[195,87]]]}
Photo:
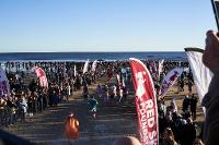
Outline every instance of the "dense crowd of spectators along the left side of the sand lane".
{"label": "dense crowd of spectators along the left side of the sand lane", "polygon": [[[33,67],[44,69],[48,88],[39,86],[38,78],[32,72]],[[60,101],[68,101],[69,97],[81,87],[94,83],[93,75],[100,73],[82,73],[82,63],[77,63],[78,72],[74,75],[71,62],[23,62],[4,64],[11,92],[0,97],[0,126],[9,126],[16,121],[25,121],[25,117],[34,116],[49,107],[56,107]],[[33,74],[33,75],[31,75]],[[27,77],[27,78],[26,78]]]}

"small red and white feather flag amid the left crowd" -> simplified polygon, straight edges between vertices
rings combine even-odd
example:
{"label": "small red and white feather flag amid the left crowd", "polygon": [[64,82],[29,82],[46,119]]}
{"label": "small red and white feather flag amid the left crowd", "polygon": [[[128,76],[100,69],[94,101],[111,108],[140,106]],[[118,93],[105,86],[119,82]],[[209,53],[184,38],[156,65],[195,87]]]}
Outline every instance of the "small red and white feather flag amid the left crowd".
{"label": "small red and white feather flag amid the left crowd", "polygon": [[39,80],[39,85],[47,88],[48,81],[47,81],[44,70],[41,69],[39,67],[34,67],[33,70],[36,73],[37,78]]}

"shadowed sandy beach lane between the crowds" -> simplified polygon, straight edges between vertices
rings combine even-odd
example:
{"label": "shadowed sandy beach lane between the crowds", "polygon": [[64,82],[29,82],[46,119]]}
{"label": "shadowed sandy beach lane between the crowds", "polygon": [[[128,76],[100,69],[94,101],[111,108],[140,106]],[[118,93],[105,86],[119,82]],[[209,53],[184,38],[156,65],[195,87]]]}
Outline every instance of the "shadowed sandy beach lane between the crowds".
{"label": "shadowed sandy beach lane between the crowds", "polygon": [[[89,86],[91,95],[96,96],[96,85],[104,84],[107,76],[96,80],[95,84]],[[115,77],[114,81],[115,82]],[[111,145],[116,138],[124,135],[134,135],[138,137],[137,114],[135,108],[134,89],[131,82],[128,83],[129,96],[126,102],[116,102],[115,100],[104,102],[97,96],[100,106],[97,117],[93,119],[87,109],[88,101],[83,99],[82,92],[73,92],[68,102],[60,102],[57,107],[48,108],[43,113],[36,113],[27,117],[26,122],[4,128],[3,130],[39,144],[66,144],[64,135],[64,122],[67,114],[72,111],[80,121],[80,138],[74,143],[77,145]],[[193,89],[196,94],[196,89]],[[169,105],[175,97],[177,109],[182,112],[182,102],[185,90],[177,93],[176,85],[165,95],[165,104]],[[200,104],[198,102],[196,122],[200,124],[204,121]]]}

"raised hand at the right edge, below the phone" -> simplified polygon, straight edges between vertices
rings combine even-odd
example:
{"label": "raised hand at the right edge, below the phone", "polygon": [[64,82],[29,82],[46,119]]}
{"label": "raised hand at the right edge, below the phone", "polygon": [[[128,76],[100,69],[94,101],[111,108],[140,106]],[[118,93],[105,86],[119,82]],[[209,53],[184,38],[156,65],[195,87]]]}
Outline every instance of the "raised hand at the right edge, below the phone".
{"label": "raised hand at the right edge, below the phone", "polygon": [[219,37],[212,31],[208,31],[206,35],[206,50],[203,55],[203,63],[212,73],[216,73],[219,72]]}

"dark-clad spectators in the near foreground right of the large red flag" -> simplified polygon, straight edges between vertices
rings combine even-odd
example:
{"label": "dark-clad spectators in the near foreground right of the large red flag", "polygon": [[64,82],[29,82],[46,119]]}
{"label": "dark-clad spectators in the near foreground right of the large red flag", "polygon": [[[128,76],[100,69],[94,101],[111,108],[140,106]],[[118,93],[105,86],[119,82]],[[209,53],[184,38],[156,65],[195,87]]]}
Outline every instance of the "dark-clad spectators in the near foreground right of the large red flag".
{"label": "dark-clad spectators in the near foreground right of the large red flag", "polygon": [[[193,97],[185,97],[184,101],[193,99]],[[163,133],[169,129],[173,133],[176,143],[192,145],[196,137],[201,138],[198,133],[200,126],[198,128],[194,122],[195,118],[192,116],[192,110],[183,107],[182,111],[178,111],[176,108],[174,100],[170,106],[166,106],[163,100],[158,101],[160,140],[163,140]]]}

